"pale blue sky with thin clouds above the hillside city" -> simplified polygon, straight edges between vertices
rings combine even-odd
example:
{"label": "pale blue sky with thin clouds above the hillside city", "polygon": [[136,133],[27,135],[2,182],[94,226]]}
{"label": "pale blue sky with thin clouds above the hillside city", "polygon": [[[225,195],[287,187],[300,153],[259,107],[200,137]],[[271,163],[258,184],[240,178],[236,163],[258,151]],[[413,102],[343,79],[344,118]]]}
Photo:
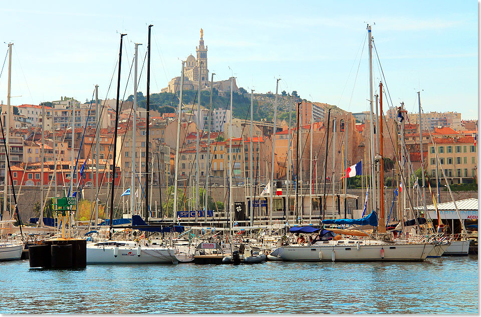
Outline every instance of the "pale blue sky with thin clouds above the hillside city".
{"label": "pale blue sky with thin clouds above the hillside city", "polygon": [[[138,2],[138,3],[137,3]],[[0,11],[0,59],[13,42],[12,101],[38,104],[73,96],[115,98],[120,32],[121,97],[134,43],[139,73],[151,37],[151,93],[180,75],[200,28],[214,80],[231,75],[256,92],[296,90],[302,98],[352,112],[369,108],[366,24],[371,23],[374,87],[388,104],[417,112],[478,116],[478,2],[466,1],[9,1]],[[379,56],[379,58],[377,57]],[[145,93],[145,67],[139,91]],[[380,71],[382,67],[382,73]],[[8,58],[0,76],[7,102]],[[210,76],[210,75],[209,75]],[[113,78],[113,80],[112,80]],[[111,81],[112,80],[112,81]],[[109,85],[111,85],[109,89]]]}

